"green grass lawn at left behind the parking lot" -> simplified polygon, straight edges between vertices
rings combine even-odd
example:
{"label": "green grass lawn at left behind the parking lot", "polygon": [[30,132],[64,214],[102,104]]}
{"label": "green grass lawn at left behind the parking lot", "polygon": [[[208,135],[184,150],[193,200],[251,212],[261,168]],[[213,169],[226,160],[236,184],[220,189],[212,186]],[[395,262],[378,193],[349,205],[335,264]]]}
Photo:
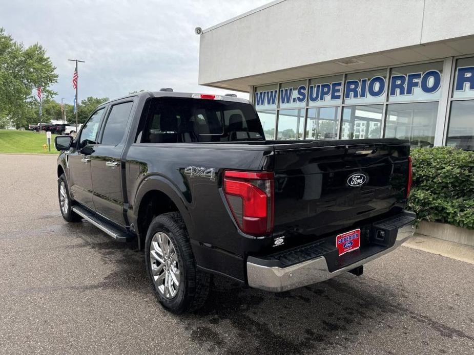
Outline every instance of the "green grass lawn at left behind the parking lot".
{"label": "green grass lawn at left behind the parking lot", "polygon": [[59,154],[56,148],[54,148],[54,137],[56,135],[51,135],[50,152],[48,148],[43,149],[43,144],[46,144],[46,134],[43,132],[0,129],[0,153]]}

